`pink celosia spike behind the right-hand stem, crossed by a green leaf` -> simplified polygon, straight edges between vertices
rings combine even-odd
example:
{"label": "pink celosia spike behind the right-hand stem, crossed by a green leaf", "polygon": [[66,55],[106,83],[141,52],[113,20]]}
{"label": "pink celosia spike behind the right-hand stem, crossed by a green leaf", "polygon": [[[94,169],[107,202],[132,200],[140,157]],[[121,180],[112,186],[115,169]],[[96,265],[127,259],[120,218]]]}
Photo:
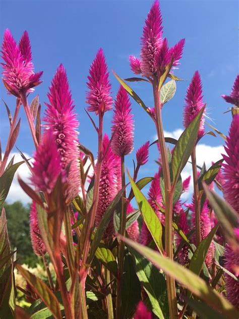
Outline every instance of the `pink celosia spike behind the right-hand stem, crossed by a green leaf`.
{"label": "pink celosia spike behind the right-hand stem, crossed by a green leaf", "polygon": [[[193,200],[194,201],[194,200]],[[192,225],[195,228],[196,221],[195,221],[195,209],[193,204],[193,212],[192,212]],[[205,201],[204,206],[202,208],[201,214],[200,214],[200,231],[201,231],[201,238],[204,239],[207,237],[207,235],[210,233],[212,227],[211,227],[211,220],[209,216],[209,208],[208,208],[208,200]],[[196,235],[193,235],[193,243],[196,243]],[[212,259],[214,256],[214,250],[215,246],[213,243],[210,244],[210,247],[208,249],[205,263],[208,268],[211,267]]]}

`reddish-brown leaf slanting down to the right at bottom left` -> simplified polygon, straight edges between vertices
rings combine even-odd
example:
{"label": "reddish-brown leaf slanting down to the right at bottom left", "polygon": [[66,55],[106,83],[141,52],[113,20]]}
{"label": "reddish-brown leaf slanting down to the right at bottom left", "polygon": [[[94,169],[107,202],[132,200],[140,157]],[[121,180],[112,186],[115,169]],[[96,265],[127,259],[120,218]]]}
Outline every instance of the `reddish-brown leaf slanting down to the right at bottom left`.
{"label": "reddish-brown leaf slanting down to the right at bottom left", "polygon": [[40,299],[45,303],[47,308],[51,311],[56,319],[62,318],[61,310],[59,307],[59,302],[53,292],[46,286],[43,281],[37,278],[35,275],[30,273],[28,270],[24,269],[20,264],[16,265],[19,273],[25,278],[34,292],[40,297]]}

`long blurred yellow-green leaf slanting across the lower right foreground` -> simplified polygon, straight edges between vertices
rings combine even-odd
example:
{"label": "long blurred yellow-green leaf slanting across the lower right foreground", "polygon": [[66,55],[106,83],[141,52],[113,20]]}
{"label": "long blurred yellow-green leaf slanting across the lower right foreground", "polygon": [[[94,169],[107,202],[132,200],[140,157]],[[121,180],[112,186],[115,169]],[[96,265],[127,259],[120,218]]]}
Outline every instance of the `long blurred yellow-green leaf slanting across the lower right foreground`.
{"label": "long blurred yellow-green leaf slanting across the lower right foreground", "polygon": [[162,269],[167,275],[175,278],[178,283],[185,286],[193,294],[206,301],[209,306],[222,312],[230,319],[238,318],[238,310],[215,289],[209,287],[202,278],[195,275],[193,272],[181,266],[177,262],[164,257],[160,253],[155,252],[146,246],[136,243],[128,238],[119,237],[145,256],[145,258],[150,260],[158,269]]}

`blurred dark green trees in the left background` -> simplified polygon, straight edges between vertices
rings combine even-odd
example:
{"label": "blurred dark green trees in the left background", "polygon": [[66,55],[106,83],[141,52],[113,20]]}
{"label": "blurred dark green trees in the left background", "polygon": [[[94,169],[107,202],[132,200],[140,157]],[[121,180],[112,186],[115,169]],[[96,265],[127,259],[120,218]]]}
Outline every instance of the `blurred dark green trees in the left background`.
{"label": "blurred dark green trees in the left background", "polygon": [[7,227],[12,250],[17,249],[17,259],[34,267],[39,261],[34,254],[29,229],[29,205],[24,206],[20,201],[4,205],[7,216]]}

